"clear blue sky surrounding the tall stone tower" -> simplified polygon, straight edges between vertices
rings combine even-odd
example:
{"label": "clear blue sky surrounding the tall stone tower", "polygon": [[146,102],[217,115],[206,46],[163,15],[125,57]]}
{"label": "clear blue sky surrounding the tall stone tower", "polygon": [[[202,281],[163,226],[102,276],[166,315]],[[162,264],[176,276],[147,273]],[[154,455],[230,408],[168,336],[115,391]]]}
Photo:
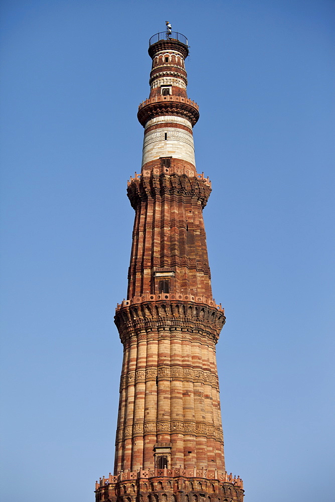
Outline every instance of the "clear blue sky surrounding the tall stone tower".
{"label": "clear blue sky surrounding the tall stone tower", "polygon": [[[185,34],[227,470],[334,500],[333,55],[326,0],[2,3],[2,500],[93,502],[113,468],[148,39]],[[259,489],[261,488],[261,493]]]}

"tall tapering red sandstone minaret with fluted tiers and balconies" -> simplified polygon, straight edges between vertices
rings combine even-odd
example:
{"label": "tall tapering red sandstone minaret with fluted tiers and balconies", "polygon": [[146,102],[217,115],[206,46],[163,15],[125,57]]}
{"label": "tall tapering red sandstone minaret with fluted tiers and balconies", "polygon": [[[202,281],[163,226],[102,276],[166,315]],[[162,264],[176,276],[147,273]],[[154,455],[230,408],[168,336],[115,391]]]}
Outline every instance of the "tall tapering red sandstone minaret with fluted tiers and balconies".
{"label": "tall tapering red sandstone minaret with fluted tiers and balconies", "polygon": [[188,41],[166,22],[148,52],[142,169],[128,182],[128,294],[115,315],[123,364],[114,474],[96,483],[96,500],[242,502],[223,451],[215,345],[225,315],[212,297],[203,221],[211,182],[196,171]]}

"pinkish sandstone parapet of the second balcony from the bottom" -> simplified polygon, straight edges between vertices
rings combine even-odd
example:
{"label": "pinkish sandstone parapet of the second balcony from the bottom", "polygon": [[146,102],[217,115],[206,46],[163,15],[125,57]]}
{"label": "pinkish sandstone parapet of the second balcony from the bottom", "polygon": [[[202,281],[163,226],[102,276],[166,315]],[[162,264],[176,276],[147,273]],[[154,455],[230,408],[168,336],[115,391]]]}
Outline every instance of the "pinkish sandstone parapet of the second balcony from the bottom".
{"label": "pinkish sandstone parapet of the second balcony from the bottom", "polygon": [[142,296],[133,296],[128,300],[123,300],[121,303],[118,303],[115,312],[118,312],[123,307],[129,307],[130,305],[139,305],[141,303],[147,302],[159,302],[159,301],[177,301],[177,302],[192,302],[192,303],[203,303],[208,305],[209,307],[214,307],[223,314],[225,313],[225,309],[222,307],[221,303],[217,304],[215,299],[208,298],[204,295],[192,295],[190,293],[161,293],[159,295],[142,295]]}

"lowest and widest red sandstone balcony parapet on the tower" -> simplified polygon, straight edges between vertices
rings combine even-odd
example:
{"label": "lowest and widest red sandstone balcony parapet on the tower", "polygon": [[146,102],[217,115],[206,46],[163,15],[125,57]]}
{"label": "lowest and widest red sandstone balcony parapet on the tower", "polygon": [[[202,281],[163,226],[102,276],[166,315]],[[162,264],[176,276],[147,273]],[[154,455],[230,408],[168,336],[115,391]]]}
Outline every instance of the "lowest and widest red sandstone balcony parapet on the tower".
{"label": "lowest and widest red sandstone balcony parapet on the tower", "polygon": [[243,488],[243,481],[240,476],[234,476],[233,474],[228,472],[218,472],[215,470],[208,469],[183,469],[179,467],[178,469],[139,469],[137,471],[131,472],[121,471],[118,475],[113,476],[109,473],[108,477],[100,477],[99,481],[95,482],[95,489],[97,490],[99,487],[105,486],[106,484],[117,483],[118,481],[126,481],[126,480],[134,480],[134,479],[150,479],[153,477],[184,477],[184,478],[196,478],[196,479],[206,479],[206,480],[217,480],[223,483],[231,483],[235,486],[239,486]]}

